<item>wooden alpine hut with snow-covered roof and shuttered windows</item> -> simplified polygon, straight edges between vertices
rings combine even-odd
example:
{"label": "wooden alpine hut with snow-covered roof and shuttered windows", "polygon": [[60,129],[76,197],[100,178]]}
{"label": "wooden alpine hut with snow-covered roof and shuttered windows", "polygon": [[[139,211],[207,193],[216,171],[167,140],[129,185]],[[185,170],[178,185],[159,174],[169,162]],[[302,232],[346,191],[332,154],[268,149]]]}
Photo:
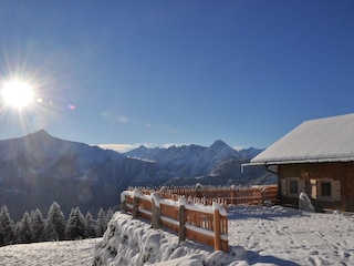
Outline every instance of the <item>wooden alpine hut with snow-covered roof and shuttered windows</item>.
{"label": "wooden alpine hut with snow-covered roof and shuttered windows", "polygon": [[354,113],[300,124],[250,161],[278,175],[280,204],[354,212]]}

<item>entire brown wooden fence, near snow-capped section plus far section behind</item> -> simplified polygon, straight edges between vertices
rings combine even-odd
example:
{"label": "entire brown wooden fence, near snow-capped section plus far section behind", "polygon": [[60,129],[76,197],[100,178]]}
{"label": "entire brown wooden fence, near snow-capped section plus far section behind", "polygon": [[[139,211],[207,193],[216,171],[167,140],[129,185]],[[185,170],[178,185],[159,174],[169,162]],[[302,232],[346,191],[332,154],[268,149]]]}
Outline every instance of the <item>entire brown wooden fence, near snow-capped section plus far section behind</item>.
{"label": "entire brown wooden fence, near snow-capped section plus far section behind", "polygon": [[278,186],[254,187],[129,187],[121,195],[122,211],[150,221],[179,235],[228,252],[228,204],[260,205],[278,202]]}

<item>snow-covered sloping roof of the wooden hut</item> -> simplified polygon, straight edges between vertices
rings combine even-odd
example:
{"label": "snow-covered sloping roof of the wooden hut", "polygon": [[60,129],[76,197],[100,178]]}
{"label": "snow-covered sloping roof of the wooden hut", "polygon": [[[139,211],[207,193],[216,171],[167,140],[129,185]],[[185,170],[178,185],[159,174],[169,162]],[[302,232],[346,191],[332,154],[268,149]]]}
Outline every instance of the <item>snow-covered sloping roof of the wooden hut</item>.
{"label": "snow-covered sloping roof of the wooden hut", "polygon": [[300,124],[250,164],[354,161],[354,113]]}

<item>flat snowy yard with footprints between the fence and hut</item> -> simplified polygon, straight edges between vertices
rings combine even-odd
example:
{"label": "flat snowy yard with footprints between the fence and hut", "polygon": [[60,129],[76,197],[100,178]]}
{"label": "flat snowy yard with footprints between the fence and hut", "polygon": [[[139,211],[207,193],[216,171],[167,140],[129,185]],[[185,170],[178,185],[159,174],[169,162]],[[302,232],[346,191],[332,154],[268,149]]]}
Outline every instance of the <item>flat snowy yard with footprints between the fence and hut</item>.
{"label": "flat snowy yard with footprints between the fence and hut", "polygon": [[237,207],[229,215],[229,245],[243,247],[250,265],[354,265],[353,215],[280,206]]}

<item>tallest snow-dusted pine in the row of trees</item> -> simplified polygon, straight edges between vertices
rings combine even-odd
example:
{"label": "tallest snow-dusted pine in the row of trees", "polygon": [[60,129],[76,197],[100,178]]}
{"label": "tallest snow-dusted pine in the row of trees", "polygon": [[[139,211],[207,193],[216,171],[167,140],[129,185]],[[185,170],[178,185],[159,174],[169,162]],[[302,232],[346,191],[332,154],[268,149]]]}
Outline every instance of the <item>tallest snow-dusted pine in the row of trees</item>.
{"label": "tallest snow-dusted pine in the row of trees", "polygon": [[48,211],[45,238],[49,241],[62,241],[65,238],[64,213],[60,209],[60,205],[56,202],[53,202]]}

